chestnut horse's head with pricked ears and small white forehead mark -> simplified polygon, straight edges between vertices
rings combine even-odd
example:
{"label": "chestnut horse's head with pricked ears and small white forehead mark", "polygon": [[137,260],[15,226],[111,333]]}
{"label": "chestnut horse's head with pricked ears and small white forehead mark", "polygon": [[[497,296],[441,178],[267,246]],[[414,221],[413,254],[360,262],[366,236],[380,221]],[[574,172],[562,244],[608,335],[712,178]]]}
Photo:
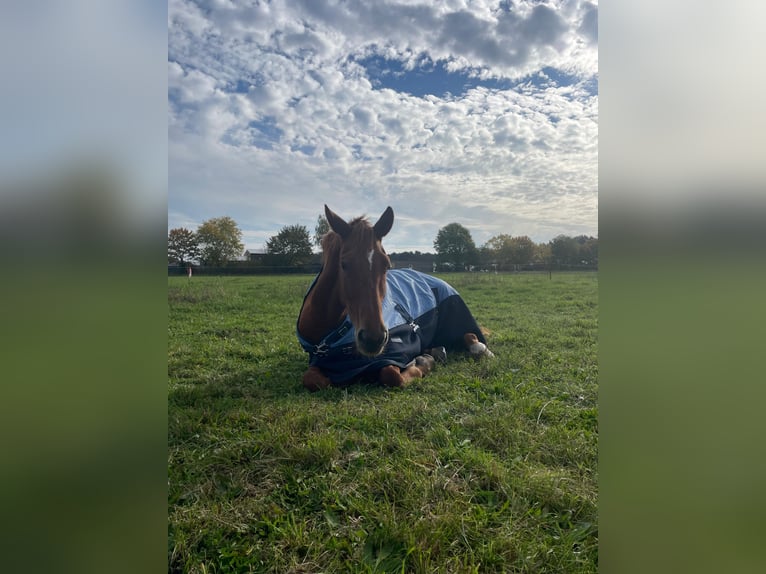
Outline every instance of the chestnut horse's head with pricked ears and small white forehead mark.
{"label": "chestnut horse's head with pricked ears and small white forehead mark", "polygon": [[386,271],[391,260],[381,239],[394,224],[394,210],[388,207],[375,225],[357,218],[346,222],[325,205],[330,228],[341,239],[338,286],[351,323],[356,331],[356,348],[374,357],[388,342],[381,306],[386,296]]}

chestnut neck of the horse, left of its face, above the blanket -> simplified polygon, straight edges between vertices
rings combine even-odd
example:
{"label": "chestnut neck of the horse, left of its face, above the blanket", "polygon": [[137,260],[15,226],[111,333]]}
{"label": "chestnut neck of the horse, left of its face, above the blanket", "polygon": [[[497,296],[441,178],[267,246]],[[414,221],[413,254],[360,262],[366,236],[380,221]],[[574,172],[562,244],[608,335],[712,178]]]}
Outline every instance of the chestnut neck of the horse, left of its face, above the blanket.
{"label": "chestnut neck of the horse, left of its face, above the blanket", "polygon": [[298,331],[310,343],[321,341],[346,316],[346,306],[338,289],[339,271],[339,255],[328,254],[322,272],[303,303]]}

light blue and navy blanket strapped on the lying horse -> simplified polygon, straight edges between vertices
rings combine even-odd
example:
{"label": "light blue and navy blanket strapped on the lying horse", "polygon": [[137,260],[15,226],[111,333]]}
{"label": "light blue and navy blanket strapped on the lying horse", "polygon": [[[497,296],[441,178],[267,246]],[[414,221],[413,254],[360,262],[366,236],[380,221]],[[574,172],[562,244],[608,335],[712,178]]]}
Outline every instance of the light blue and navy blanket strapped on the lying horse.
{"label": "light blue and navy blanket strapped on the lying horse", "polygon": [[[315,284],[316,278],[306,296]],[[486,343],[465,302],[445,281],[412,269],[391,269],[386,273],[386,285],[382,311],[389,339],[377,357],[356,352],[354,327],[348,317],[316,345],[303,339],[296,326],[309,365],[319,367],[333,384],[342,386],[386,365],[403,368],[431,347],[465,349],[466,333],[475,333]]]}

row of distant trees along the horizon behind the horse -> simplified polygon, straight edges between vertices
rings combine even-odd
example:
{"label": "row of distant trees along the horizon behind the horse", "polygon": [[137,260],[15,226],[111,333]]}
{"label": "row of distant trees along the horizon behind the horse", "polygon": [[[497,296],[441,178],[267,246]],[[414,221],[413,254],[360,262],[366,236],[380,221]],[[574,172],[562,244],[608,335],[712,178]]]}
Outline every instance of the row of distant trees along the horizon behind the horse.
{"label": "row of distant trees along the horizon behind the horse", "polygon": [[[321,246],[330,230],[324,215],[317,217],[313,235],[305,225],[286,225],[266,242],[266,253],[258,263],[269,267],[296,267],[318,261],[313,247]],[[433,242],[435,253],[390,254],[392,261],[433,264],[434,270],[506,271],[524,267],[598,266],[598,238],[586,235],[558,235],[551,241],[535,243],[526,235],[500,234],[477,247],[470,231],[460,223],[442,227]],[[222,267],[242,256],[242,232],[231,217],[203,222],[196,231],[175,228],[168,232],[168,264],[199,263]]]}

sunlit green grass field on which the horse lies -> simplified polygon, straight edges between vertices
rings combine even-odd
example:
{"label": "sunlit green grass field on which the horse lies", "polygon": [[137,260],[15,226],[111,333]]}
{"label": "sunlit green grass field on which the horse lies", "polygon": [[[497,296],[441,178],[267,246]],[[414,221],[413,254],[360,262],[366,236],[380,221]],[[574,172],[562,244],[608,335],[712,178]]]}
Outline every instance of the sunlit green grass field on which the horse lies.
{"label": "sunlit green grass field on which the horse lies", "polygon": [[311,277],[168,279],[171,572],[597,571],[597,275],[440,276],[495,360],[315,394]]}

